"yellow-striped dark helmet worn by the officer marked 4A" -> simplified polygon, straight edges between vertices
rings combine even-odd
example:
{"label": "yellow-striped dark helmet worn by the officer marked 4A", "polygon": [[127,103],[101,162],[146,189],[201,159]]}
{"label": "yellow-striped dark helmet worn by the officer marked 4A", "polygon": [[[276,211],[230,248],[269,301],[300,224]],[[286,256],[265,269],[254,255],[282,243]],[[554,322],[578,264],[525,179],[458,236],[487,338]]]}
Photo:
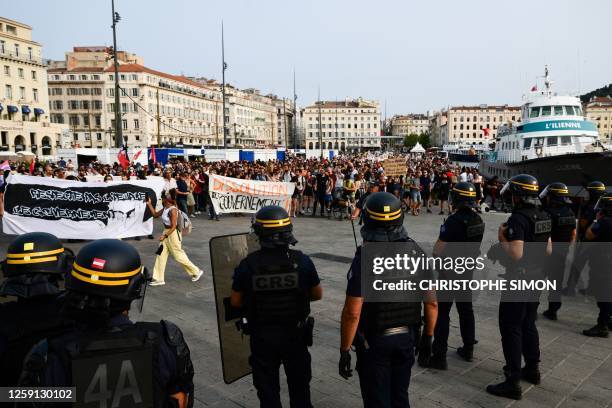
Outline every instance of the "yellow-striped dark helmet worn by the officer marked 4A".
{"label": "yellow-striped dark helmet worn by the officer marked 4A", "polygon": [[66,276],[66,290],[123,305],[143,296],[148,274],[138,251],[117,239],[99,239],[78,252]]}

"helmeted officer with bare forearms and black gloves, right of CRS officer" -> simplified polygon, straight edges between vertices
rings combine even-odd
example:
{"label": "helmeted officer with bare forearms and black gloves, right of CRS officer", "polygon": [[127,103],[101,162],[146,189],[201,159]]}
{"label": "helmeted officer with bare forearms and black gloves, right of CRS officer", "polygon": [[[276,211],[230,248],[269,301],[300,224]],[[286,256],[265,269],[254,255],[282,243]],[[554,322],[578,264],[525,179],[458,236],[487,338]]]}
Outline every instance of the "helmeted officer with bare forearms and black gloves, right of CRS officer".
{"label": "helmeted officer with bare forearms and black gloves, right of CRS officer", "polygon": [[[405,242],[422,253],[408,237],[403,226],[401,203],[393,194],[371,194],[365,202],[363,216],[361,236],[366,245],[368,242]],[[338,371],[345,379],[352,376],[350,349],[354,345],[364,407],[407,407],[417,344],[419,360],[423,364],[428,363],[426,359],[431,354],[431,338],[437,317],[435,296],[423,294],[425,330],[419,341],[421,302],[364,301],[361,257],[359,247],[348,272]],[[416,272],[423,275],[422,271]]]}

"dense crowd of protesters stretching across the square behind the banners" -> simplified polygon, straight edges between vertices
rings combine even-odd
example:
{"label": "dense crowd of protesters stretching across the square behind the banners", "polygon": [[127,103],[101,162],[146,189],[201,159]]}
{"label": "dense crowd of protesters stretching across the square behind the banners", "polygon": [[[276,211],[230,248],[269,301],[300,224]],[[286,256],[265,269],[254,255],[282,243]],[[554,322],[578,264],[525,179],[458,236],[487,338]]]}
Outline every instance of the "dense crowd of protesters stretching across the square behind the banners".
{"label": "dense crowd of protesters stretching across the square behind the banners", "polygon": [[[161,176],[165,179],[164,190],[176,191],[176,205],[180,210],[190,217],[206,214],[211,220],[219,220],[219,215],[215,213],[209,196],[209,174],[294,183],[290,209],[292,217],[316,214],[330,216],[332,203],[338,198],[348,202],[350,213],[360,198],[372,188],[396,195],[402,200],[405,210],[413,216],[418,216],[422,211],[450,213],[448,195],[452,186],[460,181],[473,183],[479,200],[484,202],[488,196],[491,206],[496,205],[498,183],[495,180],[485,183],[475,168],[461,167],[432,155],[408,156],[405,174],[387,175],[384,169],[385,158],[387,156],[360,154],[340,155],[333,159],[289,156],[284,161],[267,162],[175,159],[165,165],[132,164],[126,168],[119,163],[109,165],[97,161],[75,166],[72,160],[61,158],[57,162],[5,162],[3,167],[4,177],[10,172],[78,181],[86,181],[90,176],[97,176],[103,181]],[[7,168],[9,166],[10,169]],[[0,191],[3,188],[2,182]]]}

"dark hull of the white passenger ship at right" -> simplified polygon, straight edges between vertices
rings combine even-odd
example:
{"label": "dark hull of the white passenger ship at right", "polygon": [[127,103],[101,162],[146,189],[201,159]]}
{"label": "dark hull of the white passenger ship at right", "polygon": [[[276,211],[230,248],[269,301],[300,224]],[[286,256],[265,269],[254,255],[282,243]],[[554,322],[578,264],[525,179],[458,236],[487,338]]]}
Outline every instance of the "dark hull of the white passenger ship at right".
{"label": "dark hull of the white passenger ship at right", "polygon": [[572,194],[584,192],[584,187],[593,180],[612,186],[612,152],[564,154],[542,157],[517,163],[480,161],[480,173],[487,179],[497,176],[506,181],[517,174],[531,174],[541,186],[554,181],[565,183]]}

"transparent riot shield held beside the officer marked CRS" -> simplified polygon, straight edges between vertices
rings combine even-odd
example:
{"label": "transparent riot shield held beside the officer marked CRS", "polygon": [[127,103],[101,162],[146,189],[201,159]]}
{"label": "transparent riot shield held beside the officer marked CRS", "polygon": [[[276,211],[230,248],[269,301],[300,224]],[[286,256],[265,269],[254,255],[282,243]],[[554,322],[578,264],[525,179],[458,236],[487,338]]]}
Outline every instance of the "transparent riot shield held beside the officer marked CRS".
{"label": "transparent riot shield held beside the officer marked CRS", "polygon": [[239,316],[230,310],[229,297],[234,269],[249,253],[257,249],[259,249],[257,237],[249,233],[224,235],[210,240],[221,365],[223,381],[226,384],[231,384],[251,373],[249,337],[238,331],[236,323]]}

